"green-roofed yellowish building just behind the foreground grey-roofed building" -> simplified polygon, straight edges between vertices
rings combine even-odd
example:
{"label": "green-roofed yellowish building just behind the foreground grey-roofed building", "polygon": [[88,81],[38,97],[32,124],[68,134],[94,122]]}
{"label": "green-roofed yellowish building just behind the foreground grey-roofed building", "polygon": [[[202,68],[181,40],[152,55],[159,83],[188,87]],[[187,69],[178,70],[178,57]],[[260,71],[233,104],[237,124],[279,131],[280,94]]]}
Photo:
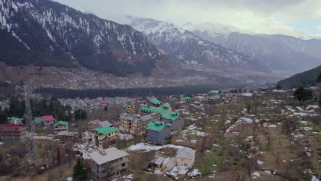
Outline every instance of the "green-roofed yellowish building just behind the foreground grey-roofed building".
{"label": "green-roofed yellowish building just behind the foreground grey-roofed building", "polygon": [[95,147],[102,147],[104,141],[108,141],[108,144],[114,144],[118,139],[118,128],[110,128],[105,126],[102,128],[96,128],[93,130],[92,141]]}

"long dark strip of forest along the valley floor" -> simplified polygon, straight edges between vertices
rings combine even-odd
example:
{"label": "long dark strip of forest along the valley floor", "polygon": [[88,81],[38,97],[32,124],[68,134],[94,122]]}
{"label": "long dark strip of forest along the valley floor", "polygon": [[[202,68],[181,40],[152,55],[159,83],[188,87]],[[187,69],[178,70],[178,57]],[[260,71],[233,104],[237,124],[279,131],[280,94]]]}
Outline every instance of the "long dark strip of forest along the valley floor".
{"label": "long dark strip of forest along the valley floor", "polygon": [[91,98],[96,97],[145,97],[160,95],[187,95],[196,93],[207,93],[211,89],[222,89],[228,87],[243,87],[245,83],[235,84],[217,84],[203,86],[177,86],[177,87],[160,87],[160,88],[127,88],[127,89],[88,89],[88,90],[71,90],[64,88],[38,88],[36,93],[44,96],[55,96],[64,99]]}

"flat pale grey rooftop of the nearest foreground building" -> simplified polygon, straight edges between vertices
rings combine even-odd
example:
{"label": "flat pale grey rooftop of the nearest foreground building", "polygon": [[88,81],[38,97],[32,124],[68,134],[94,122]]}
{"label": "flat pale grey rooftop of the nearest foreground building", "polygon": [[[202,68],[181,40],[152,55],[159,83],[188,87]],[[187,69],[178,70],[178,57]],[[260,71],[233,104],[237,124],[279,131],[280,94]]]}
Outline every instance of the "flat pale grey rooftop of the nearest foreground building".
{"label": "flat pale grey rooftop of the nearest foreground building", "polygon": [[119,150],[116,147],[110,147],[104,149],[106,152],[105,155],[102,155],[97,150],[96,152],[89,153],[88,155],[96,162],[98,165],[102,165],[106,162],[110,162],[112,160],[116,160],[118,158],[123,158],[124,156],[128,156],[128,153],[124,152],[123,150]]}

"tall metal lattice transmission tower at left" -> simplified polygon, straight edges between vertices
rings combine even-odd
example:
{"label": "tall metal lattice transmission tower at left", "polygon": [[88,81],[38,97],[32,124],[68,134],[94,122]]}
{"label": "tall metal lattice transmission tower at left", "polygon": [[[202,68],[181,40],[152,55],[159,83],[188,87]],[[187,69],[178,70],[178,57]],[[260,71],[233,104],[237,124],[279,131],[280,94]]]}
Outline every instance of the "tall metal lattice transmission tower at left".
{"label": "tall metal lattice transmission tower at left", "polygon": [[36,141],[34,140],[34,121],[32,120],[32,111],[30,106],[30,97],[32,95],[32,90],[29,86],[24,86],[25,90],[25,117],[27,123],[27,138],[25,142],[27,145],[27,162],[34,163],[35,165],[39,164],[39,157],[38,157],[38,147]]}

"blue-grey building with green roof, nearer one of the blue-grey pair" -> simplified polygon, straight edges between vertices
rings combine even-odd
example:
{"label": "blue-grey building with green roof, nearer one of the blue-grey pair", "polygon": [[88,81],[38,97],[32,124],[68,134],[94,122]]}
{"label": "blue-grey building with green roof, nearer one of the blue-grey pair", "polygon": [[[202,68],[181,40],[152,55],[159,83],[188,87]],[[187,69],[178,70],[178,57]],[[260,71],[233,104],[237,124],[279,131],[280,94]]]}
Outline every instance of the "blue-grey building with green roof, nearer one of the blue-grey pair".
{"label": "blue-grey building with green roof, nearer one of the blue-grey pair", "polygon": [[153,121],[147,124],[147,140],[154,143],[165,143],[171,138],[171,123]]}

